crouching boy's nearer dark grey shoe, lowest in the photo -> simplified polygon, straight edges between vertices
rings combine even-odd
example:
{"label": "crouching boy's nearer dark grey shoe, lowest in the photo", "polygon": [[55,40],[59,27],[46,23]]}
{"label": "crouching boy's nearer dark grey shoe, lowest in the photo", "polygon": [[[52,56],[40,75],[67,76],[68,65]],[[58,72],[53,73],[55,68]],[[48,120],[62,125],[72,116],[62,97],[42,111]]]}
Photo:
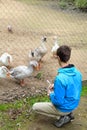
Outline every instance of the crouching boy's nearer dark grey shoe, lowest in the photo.
{"label": "crouching boy's nearer dark grey shoe, lowest in the photo", "polygon": [[58,128],[71,121],[70,115],[61,116],[59,120],[55,121],[54,125]]}

